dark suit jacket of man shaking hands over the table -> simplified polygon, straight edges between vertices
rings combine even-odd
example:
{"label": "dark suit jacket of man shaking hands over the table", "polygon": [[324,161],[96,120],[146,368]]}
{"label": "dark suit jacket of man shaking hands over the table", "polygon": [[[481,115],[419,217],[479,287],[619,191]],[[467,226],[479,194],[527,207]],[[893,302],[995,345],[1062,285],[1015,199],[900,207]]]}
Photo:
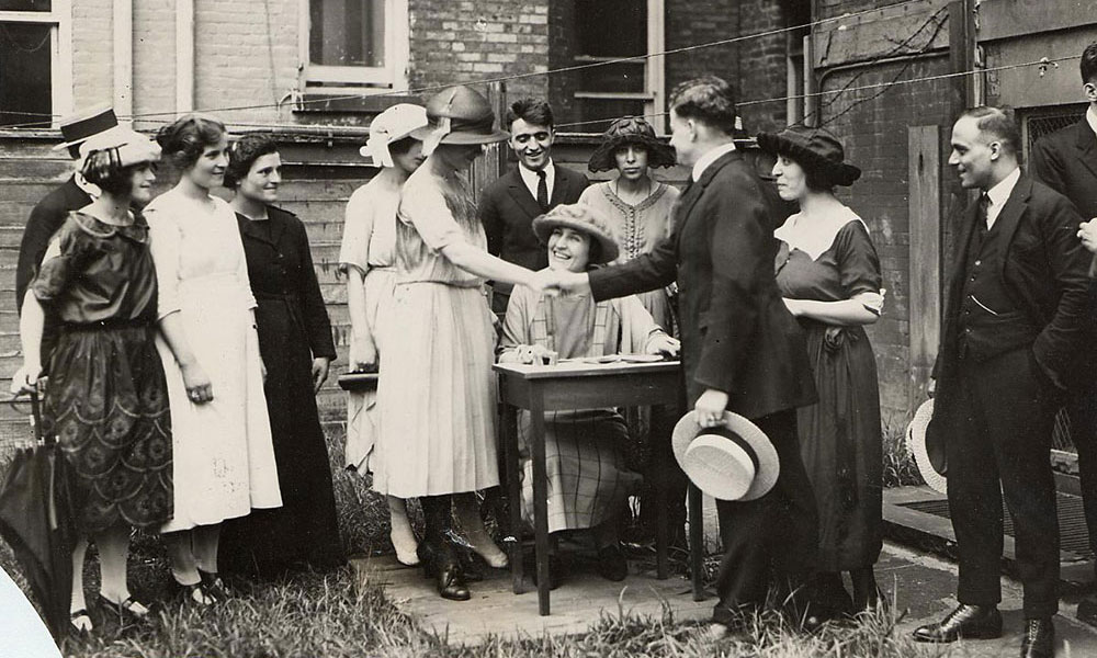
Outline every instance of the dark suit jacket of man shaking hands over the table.
{"label": "dark suit jacket of man shaking hands over the table", "polygon": [[747,418],[810,405],[804,336],[773,275],[778,216],[738,150],[709,166],[678,201],[671,235],[629,263],[590,272],[596,299],[677,280],[689,406],[708,388]]}

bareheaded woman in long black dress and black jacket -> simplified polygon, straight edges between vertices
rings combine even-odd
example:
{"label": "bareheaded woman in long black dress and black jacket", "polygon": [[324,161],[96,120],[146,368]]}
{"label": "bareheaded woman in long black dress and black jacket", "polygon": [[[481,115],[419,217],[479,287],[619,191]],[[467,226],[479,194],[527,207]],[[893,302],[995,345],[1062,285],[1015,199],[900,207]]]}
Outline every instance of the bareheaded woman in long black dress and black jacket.
{"label": "bareheaded woman in long black dress and black jacket", "polygon": [[267,412],[282,507],[225,522],[222,570],[275,576],[346,564],[331,467],[316,393],[336,358],[331,324],[313,269],[305,225],[278,201],[282,160],[269,137],[248,136],[229,149],[225,186],[235,190],[248,280],[255,295],[259,352],[267,366]]}

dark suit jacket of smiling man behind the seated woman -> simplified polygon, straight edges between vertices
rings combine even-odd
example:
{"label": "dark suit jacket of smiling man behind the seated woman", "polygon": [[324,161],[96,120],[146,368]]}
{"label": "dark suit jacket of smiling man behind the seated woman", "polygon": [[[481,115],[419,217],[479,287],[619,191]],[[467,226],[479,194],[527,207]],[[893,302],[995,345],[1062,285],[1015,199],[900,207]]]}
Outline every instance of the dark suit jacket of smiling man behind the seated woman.
{"label": "dark suit jacket of smiling man behind the seated woman", "polygon": [[[590,183],[587,177],[558,164],[548,207],[578,203],[579,195]],[[518,169],[512,169],[484,189],[479,200],[479,217],[487,234],[487,250],[507,262],[528,270],[548,266],[544,245],[533,234],[533,219],[543,214],[538,200],[522,182]],[[509,283],[498,283],[495,290],[509,293]]]}

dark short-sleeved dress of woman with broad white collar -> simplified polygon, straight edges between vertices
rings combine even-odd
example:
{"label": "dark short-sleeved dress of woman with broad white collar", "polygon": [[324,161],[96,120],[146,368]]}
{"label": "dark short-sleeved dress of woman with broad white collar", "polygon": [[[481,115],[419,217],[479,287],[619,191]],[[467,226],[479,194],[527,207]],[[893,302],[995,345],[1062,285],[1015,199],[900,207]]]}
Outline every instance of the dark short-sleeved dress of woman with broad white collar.
{"label": "dark short-sleeved dress of woman with broad white collar", "polygon": [[[851,215],[852,217],[852,215]],[[880,261],[859,219],[812,260],[781,242],[777,283],[792,299],[838,302],[880,292]],[[821,571],[871,566],[882,543],[883,447],[872,345],[862,327],[801,318],[819,401],[798,413],[800,452],[819,512]]]}

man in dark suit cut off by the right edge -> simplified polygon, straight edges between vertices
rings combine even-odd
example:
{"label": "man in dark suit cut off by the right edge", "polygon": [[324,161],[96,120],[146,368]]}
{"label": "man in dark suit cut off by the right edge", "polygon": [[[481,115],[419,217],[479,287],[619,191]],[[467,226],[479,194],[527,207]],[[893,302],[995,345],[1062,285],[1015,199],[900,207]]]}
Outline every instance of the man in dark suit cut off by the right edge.
{"label": "man in dark suit cut off by the right edge", "polygon": [[[1041,138],[1031,158],[1032,178],[1066,196],[1077,208],[1087,232],[1097,232],[1097,42],[1082,53],[1082,89],[1089,101],[1078,123]],[[1084,236],[1083,236],[1084,237]],[[1085,243],[1097,251],[1097,242]],[[1090,321],[1097,322],[1097,285],[1090,290]],[[1097,328],[1092,328],[1092,330]],[[1097,330],[1090,336],[1097,334]],[[1090,344],[1094,344],[1093,339]],[[1089,546],[1097,551],[1097,350],[1090,350],[1088,378],[1077,383],[1067,400],[1071,439],[1078,451],[1082,502]],[[1078,604],[1078,620],[1097,626],[1097,595]]]}

